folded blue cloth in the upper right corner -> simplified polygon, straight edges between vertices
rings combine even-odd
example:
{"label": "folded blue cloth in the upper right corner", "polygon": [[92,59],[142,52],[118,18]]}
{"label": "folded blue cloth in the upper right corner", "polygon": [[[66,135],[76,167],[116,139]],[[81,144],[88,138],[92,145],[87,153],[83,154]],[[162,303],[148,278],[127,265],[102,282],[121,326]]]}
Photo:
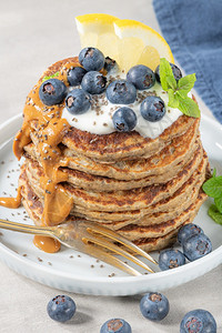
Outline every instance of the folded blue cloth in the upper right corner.
{"label": "folded blue cloth in the upper right corner", "polygon": [[222,1],[153,0],[162,33],[194,88],[222,123]]}

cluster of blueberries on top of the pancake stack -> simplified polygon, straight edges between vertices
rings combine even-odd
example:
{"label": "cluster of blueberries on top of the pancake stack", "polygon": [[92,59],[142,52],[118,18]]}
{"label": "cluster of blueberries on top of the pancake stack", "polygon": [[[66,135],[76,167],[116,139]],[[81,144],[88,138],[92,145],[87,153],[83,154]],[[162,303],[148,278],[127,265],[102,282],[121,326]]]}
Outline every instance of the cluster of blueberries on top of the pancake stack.
{"label": "cluster of blueberries on top of the pancake stack", "polygon": [[[107,87],[107,78],[100,72],[109,72],[115,67],[115,61],[97,48],[84,48],[79,54],[82,67],[73,67],[68,72],[70,87],[58,79],[44,81],[39,90],[39,97],[46,105],[60,104],[65,99],[65,108],[71,114],[85,113],[91,107],[91,95],[101,94],[105,90],[107,99],[113,104],[128,105],[137,100],[137,90],[150,89],[155,81],[160,82],[159,67],[155,73],[143,64],[132,67],[127,73],[127,80],[115,80]],[[180,69],[171,63],[175,80],[182,78]],[[78,88],[81,85],[81,88]],[[147,97],[140,105],[141,115],[151,122],[157,122],[165,114],[165,105],[161,98]],[[117,131],[132,131],[137,125],[137,115],[129,107],[120,107],[112,117]]]}

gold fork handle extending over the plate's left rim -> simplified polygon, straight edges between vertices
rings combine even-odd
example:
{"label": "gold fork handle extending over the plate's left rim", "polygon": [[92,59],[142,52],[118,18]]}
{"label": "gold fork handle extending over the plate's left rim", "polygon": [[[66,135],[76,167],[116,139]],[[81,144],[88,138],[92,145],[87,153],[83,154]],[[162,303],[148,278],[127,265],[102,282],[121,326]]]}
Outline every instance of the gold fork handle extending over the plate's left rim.
{"label": "gold fork handle extending over the plate's left rim", "polygon": [[0,228],[7,230],[13,230],[18,232],[31,233],[31,234],[48,235],[48,236],[52,235],[52,231],[50,230],[50,228],[22,224],[22,223],[7,221],[2,219],[0,219]]}

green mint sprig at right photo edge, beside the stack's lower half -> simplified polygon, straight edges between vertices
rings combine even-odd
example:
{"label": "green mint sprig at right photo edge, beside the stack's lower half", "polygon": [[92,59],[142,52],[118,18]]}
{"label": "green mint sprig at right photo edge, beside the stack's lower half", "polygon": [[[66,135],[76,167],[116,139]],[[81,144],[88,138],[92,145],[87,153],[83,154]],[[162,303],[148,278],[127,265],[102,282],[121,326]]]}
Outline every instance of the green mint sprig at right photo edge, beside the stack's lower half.
{"label": "green mint sprig at right photo edge, beside the stack's lower half", "polygon": [[214,199],[214,204],[209,208],[209,215],[219,224],[222,224],[222,175],[216,176],[213,170],[212,178],[202,185],[203,191]]}

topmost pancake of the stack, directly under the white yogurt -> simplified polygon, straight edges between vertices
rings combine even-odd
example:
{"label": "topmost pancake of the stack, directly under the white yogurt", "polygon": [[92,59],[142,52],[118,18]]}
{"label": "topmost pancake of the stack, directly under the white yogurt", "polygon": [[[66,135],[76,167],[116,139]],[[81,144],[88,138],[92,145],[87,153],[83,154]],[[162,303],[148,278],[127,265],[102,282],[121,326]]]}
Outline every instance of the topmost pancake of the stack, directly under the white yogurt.
{"label": "topmost pancake of the stack, directly under the white yogurt", "polygon": [[138,132],[113,132],[98,135],[71,129],[62,143],[74,154],[83,154],[99,161],[118,161],[149,158],[170,144],[173,138],[182,135],[190,127],[199,124],[199,119],[181,115],[157,139],[143,138]]}

